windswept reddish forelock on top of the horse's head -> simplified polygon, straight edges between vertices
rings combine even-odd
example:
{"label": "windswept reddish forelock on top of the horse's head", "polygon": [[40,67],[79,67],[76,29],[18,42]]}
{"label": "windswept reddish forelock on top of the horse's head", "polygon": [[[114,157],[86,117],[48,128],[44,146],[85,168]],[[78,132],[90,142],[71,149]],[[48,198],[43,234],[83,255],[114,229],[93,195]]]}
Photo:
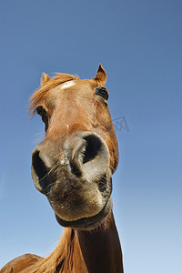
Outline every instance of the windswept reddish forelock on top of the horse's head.
{"label": "windswept reddish forelock on top of the horse's head", "polygon": [[35,107],[41,101],[43,96],[45,96],[45,93],[47,91],[55,88],[56,86],[60,86],[68,81],[78,80],[78,79],[79,79],[78,76],[73,76],[66,73],[56,73],[55,76],[53,76],[48,82],[46,82],[44,86],[40,86],[35,91],[35,93],[30,97],[29,111],[30,113],[32,113],[31,116],[35,115]]}

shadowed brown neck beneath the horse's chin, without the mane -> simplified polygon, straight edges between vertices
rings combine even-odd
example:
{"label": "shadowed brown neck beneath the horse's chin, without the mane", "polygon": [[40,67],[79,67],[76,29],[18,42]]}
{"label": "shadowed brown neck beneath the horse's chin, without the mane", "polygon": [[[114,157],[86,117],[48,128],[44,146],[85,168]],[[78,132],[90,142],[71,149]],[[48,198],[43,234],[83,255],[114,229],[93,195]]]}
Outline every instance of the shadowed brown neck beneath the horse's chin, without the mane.
{"label": "shadowed brown neck beneath the horse's chin, without the mane", "polygon": [[75,231],[74,273],[123,273],[122,252],[113,213],[92,231]]}

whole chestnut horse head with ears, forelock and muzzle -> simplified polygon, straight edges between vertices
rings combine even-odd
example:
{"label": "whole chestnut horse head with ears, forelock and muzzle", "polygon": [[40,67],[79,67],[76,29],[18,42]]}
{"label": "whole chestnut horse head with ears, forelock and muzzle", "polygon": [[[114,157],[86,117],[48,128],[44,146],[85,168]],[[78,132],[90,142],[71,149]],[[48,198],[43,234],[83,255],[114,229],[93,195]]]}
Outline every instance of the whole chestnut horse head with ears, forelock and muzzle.
{"label": "whole chestnut horse head with ears, forelock and muzzle", "polygon": [[101,65],[92,79],[43,74],[31,97],[30,109],[45,123],[45,139],[32,155],[32,177],[64,227],[98,227],[112,210],[118,147],[105,85]]}

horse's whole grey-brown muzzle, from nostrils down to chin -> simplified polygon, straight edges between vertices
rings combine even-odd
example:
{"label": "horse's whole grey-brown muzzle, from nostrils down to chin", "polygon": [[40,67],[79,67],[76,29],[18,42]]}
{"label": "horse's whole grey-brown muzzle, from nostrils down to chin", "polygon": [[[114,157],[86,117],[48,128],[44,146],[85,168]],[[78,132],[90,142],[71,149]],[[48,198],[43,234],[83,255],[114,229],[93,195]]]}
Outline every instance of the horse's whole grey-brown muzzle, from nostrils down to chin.
{"label": "horse's whole grey-brown muzzle, from nostrils down to chin", "polygon": [[35,187],[48,198],[60,225],[86,229],[104,221],[112,206],[109,163],[106,142],[94,132],[45,139],[35,147]]}

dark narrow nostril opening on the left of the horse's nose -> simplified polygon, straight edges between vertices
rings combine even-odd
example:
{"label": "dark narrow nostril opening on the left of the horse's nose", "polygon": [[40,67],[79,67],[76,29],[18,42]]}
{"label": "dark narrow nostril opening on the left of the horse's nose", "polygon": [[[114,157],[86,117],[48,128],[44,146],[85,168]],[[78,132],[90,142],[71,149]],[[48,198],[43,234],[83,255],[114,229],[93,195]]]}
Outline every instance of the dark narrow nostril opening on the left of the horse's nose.
{"label": "dark narrow nostril opening on the left of the horse's nose", "polygon": [[41,159],[39,154],[39,151],[34,152],[32,156],[32,167],[34,168],[35,175],[38,177],[38,181],[35,181],[35,184],[38,183],[38,187],[41,187],[41,191],[45,191],[45,189],[48,190],[48,186],[50,183],[47,175],[47,168],[45,167],[45,163]]}

